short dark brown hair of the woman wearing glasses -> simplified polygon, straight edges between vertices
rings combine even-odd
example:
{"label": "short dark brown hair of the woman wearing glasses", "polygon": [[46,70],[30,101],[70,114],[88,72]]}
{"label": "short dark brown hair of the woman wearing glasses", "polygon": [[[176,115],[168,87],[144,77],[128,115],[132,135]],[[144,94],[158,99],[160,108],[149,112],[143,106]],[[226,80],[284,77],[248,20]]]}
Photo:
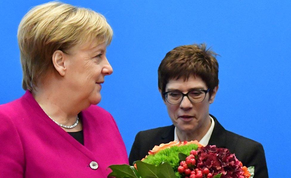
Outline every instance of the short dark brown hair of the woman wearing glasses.
{"label": "short dark brown hair of the woman wearing glasses", "polygon": [[[158,87],[165,92],[170,79],[183,78],[186,81],[191,75],[199,76],[210,89],[218,85],[218,62],[216,53],[206,50],[205,44],[178,46],[169,51],[158,69]],[[163,98],[165,99],[165,98]]]}

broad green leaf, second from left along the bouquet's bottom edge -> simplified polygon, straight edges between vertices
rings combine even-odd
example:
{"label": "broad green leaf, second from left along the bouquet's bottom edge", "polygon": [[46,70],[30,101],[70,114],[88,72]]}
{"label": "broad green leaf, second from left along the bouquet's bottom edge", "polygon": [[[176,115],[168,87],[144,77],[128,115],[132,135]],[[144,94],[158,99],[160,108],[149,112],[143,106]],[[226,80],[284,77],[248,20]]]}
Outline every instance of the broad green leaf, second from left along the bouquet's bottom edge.
{"label": "broad green leaf, second from left along the bouquet's bottom edge", "polygon": [[157,176],[157,166],[142,161],[137,161],[135,164],[137,165],[137,172],[142,178],[159,178]]}

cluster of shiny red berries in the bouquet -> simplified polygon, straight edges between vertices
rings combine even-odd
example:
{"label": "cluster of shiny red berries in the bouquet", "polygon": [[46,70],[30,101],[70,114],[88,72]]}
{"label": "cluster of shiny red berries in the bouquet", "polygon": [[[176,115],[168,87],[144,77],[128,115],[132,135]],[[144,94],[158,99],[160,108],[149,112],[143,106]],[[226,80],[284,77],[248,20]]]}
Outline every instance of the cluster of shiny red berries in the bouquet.
{"label": "cluster of shiny red berries in the bouquet", "polygon": [[212,178],[213,175],[209,172],[208,168],[195,169],[195,159],[197,159],[197,152],[193,149],[190,155],[186,157],[186,160],[180,162],[178,172],[184,174],[185,178]]}

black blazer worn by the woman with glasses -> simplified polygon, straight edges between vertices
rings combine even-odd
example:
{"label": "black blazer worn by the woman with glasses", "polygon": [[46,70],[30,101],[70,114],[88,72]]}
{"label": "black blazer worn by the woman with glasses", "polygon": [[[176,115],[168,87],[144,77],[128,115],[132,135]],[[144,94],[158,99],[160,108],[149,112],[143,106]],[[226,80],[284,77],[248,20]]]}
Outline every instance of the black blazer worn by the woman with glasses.
{"label": "black blazer worn by the woman with glasses", "polygon": [[[255,166],[254,178],[268,178],[263,146],[249,138],[225,130],[214,116],[210,116],[214,119],[214,128],[208,144],[229,149],[244,166]],[[175,126],[171,125],[137,133],[129,154],[129,163],[144,158],[155,145],[174,141],[174,129]]]}

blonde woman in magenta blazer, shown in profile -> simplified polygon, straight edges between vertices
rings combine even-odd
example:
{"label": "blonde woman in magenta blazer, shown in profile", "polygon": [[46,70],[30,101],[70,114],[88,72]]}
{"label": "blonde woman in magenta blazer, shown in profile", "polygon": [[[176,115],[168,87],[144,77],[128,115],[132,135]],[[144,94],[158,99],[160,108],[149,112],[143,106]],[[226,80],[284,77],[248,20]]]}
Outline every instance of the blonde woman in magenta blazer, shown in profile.
{"label": "blonde woman in magenta blazer, shown in profile", "polygon": [[101,100],[112,73],[112,29],[97,12],[60,2],[21,20],[19,99],[0,106],[0,177],[107,177],[128,164],[116,123]]}

